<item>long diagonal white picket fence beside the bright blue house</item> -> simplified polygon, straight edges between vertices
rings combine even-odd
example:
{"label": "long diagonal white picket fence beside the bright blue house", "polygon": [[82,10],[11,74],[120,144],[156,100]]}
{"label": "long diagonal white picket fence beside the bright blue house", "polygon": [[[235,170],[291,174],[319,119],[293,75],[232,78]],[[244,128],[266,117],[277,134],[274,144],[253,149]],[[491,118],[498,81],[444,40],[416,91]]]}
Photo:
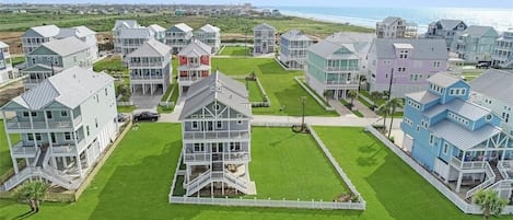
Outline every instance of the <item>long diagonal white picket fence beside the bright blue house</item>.
{"label": "long diagonal white picket fence beside the bright blue house", "polygon": [[[459,197],[456,193],[451,190],[445,186],[440,180],[438,180],[433,174],[428,172],[419,163],[417,163],[411,157],[409,157],[405,151],[395,146],[389,141],[385,136],[377,131],[374,127],[368,126],[365,130],[369,130],[374,137],[382,141],[392,152],[399,157],[406,164],[408,164],[415,172],[422,176],[428,183],[430,183],[436,190],[444,195],[448,200],[451,200],[456,207],[458,207],[465,213],[475,213],[480,215],[482,211],[478,206],[467,202],[465,199]],[[502,211],[503,215],[513,213],[513,206],[506,206]]]}

